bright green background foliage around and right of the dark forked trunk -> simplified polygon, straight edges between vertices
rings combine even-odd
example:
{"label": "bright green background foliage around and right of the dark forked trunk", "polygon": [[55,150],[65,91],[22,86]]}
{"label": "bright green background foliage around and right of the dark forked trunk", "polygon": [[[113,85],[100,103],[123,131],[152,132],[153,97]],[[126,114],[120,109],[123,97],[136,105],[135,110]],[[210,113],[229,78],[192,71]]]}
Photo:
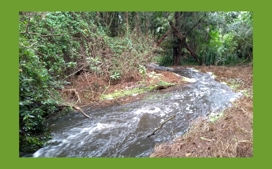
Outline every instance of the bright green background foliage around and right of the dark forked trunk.
{"label": "bright green background foliage around and right of the dark forked trunk", "polygon": [[[167,21],[173,19],[174,12],[166,16],[162,25],[168,27],[164,30],[170,27]],[[253,12],[182,12],[180,22],[177,28],[186,36],[186,42],[203,64],[228,65],[244,60],[253,62]],[[161,65],[172,65],[174,41],[175,37],[168,36],[162,42],[164,50],[156,60]],[[180,64],[184,65],[183,62],[196,62],[184,46]]]}

